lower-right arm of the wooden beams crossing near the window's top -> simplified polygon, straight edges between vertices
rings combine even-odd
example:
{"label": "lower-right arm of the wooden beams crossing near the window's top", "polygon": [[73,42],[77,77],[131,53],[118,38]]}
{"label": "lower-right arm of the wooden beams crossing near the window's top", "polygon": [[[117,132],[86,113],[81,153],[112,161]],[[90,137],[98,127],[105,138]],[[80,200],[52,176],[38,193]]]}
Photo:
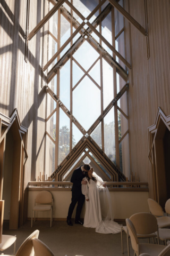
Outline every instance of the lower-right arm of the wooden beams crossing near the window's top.
{"label": "lower-right arm of the wooden beams crossing near the window's top", "polygon": [[94,26],[92,26],[92,25],[90,24],[89,21],[87,22],[87,25],[89,26],[89,28],[91,28],[92,31],[94,31],[94,33],[95,33],[99,38],[101,38],[101,41],[103,41],[103,42],[109,47],[109,49],[111,49],[111,50],[113,51],[113,53],[116,54],[116,56],[126,65],[126,67],[128,67],[128,68],[131,69],[130,63],[129,63],[128,61],[126,61],[120,53],[118,53],[118,52],[116,51],[116,49],[105,39],[104,36],[102,36],[102,35],[97,31],[96,28],[94,28]]}

